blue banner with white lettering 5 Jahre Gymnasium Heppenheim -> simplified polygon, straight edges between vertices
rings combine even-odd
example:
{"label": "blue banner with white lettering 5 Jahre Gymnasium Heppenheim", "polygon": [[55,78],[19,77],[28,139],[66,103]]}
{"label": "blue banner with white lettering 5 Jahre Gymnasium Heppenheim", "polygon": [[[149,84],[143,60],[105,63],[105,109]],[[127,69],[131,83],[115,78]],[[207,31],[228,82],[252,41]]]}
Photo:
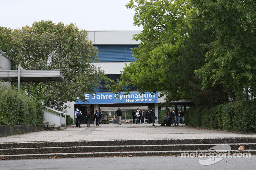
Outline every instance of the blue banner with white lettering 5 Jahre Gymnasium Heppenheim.
{"label": "blue banner with white lettering 5 Jahre Gymnasium Heppenheim", "polygon": [[[118,96],[118,98],[117,98]],[[84,94],[90,104],[109,104],[109,103],[157,103],[157,93],[151,95],[150,92],[140,94],[139,92],[130,92],[124,95],[124,92],[114,94],[110,92],[97,92],[95,94]],[[81,100],[76,104],[85,104]]]}

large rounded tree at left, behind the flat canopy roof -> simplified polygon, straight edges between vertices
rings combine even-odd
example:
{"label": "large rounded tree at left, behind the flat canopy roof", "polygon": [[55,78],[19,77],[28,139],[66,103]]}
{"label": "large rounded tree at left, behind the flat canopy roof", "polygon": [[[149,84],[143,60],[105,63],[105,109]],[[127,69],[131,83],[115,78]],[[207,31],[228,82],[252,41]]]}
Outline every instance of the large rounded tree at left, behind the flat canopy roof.
{"label": "large rounded tree at left, behind the flat canopy roof", "polygon": [[84,93],[94,92],[104,78],[104,72],[92,64],[98,61],[97,48],[88,40],[88,32],[75,24],[34,22],[13,31],[12,46],[13,60],[24,69],[64,72],[65,82],[42,84],[45,94],[51,94],[45,103],[49,107],[63,110],[67,101],[85,101]]}

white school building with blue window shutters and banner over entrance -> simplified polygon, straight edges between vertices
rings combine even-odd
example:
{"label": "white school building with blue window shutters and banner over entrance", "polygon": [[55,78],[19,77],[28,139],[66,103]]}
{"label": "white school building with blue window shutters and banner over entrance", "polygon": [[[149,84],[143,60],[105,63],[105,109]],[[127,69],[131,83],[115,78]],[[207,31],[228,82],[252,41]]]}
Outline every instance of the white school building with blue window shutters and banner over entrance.
{"label": "white school building with blue window shutters and banner over entrance", "polygon": [[[140,42],[132,40],[134,34],[138,34],[141,31],[89,31],[89,40],[92,40],[93,46],[97,47],[100,51],[99,61],[100,63],[93,63],[95,66],[100,66],[108,78],[115,80],[120,79],[120,71],[125,67],[125,63],[129,65],[135,61],[136,58],[132,55],[131,48],[138,47]],[[116,110],[120,107],[122,111],[122,122],[128,123],[132,119],[132,111],[136,111],[137,108],[144,110],[146,113],[148,108],[155,108],[155,114],[158,117],[158,112],[165,107],[158,107],[159,103],[164,102],[164,97],[159,98],[159,93],[152,95],[150,92],[140,95],[136,92],[136,87],[129,87],[132,89],[130,94],[124,95],[124,92],[118,94],[116,98],[115,94],[108,91],[105,87],[107,82],[102,81],[101,86],[96,89],[95,94],[84,94],[89,102],[83,103],[69,102],[70,108],[67,109],[67,114],[75,120],[75,108],[77,107],[82,113],[85,112],[87,106],[90,106],[95,113],[95,110],[101,110],[103,113],[103,119],[108,123],[116,123]],[[186,101],[179,101],[177,106],[180,109],[186,110],[190,103]],[[146,119],[145,119],[146,120]],[[84,122],[85,123],[85,122]]]}

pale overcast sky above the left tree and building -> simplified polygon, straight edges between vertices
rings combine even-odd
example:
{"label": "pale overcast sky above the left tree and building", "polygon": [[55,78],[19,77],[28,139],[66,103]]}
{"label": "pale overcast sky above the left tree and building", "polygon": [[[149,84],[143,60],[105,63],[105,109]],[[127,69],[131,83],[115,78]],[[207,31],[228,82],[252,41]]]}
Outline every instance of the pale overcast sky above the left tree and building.
{"label": "pale overcast sky above the left tree and building", "polygon": [[129,0],[0,0],[0,26],[12,29],[34,21],[75,23],[87,30],[142,30],[133,25]]}

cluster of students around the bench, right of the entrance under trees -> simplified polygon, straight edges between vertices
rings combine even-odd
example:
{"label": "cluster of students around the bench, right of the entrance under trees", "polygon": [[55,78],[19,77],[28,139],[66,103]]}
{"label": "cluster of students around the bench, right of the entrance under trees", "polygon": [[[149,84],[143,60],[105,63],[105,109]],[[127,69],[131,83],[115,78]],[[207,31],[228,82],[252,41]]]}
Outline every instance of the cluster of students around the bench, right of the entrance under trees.
{"label": "cluster of students around the bench, right of the entrance under trees", "polygon": [[172,109],[167,109],[167,113],[164,117],[164,122],[172,122],[172,125],[174,124],[174,126],[179,126],[180,122],[184,122],[185,112],[183,112],[183,110],[180,111],[177,106],[175,106],[174,108],[175,112]]}

